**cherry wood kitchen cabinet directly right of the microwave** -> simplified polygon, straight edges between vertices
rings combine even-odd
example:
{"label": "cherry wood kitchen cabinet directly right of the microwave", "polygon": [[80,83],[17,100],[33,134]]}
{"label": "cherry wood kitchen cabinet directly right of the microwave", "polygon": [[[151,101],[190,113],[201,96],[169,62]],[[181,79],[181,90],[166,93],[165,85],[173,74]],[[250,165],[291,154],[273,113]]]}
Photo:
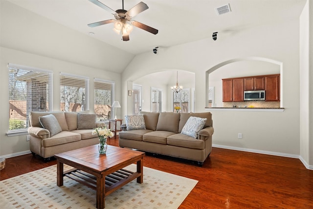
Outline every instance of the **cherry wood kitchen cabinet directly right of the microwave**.
{"label": "cherry wood kitchen cabinet directly right of the microwave", "polygon": [[280,74],[265,76],[265,101],[280,101]]}

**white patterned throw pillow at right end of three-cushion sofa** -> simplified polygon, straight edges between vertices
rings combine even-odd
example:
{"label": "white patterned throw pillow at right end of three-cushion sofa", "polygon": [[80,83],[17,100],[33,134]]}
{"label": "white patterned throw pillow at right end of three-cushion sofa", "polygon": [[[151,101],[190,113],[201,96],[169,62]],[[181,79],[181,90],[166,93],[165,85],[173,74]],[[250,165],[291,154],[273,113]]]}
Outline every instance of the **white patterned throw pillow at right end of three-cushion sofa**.
{"label": "white patterned throw pillow at right end of three-cushion sofa", "polygon": [[190,116],[181,130],[181,134],[197,138],[199,131],[203,128],[206,118]]}

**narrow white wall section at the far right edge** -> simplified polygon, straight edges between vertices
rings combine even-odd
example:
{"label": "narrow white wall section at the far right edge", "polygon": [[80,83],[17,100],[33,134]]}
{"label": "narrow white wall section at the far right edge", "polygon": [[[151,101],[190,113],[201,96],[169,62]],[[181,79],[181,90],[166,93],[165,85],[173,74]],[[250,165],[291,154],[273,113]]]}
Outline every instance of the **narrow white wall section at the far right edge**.
{"label": "narrow white wall section at the far right edge", "polygon": [[[310,13],[311,11],[311,13]],[[300,16],[300,155],[313,164],[313,2],[307,1]],[[310,25],[311,22],[311,25]],[[310,59],[311,58],[311,59]]]}

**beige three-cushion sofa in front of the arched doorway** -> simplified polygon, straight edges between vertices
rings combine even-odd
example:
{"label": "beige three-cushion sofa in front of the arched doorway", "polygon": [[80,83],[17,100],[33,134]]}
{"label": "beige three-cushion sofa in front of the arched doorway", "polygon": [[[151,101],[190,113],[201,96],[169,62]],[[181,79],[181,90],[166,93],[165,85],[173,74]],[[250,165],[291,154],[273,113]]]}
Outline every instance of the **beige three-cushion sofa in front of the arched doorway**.
{"label": "beige three-cushion sofa in front of the arched doorway", "polygon": [[[145,129],[119,132],[120,147],[197,161],[200,166],[211,153],[214,132],[211,113],[140,112],[139,115],[143,115]],[[181,133],[191,116],[206,118],[196,138]]]}

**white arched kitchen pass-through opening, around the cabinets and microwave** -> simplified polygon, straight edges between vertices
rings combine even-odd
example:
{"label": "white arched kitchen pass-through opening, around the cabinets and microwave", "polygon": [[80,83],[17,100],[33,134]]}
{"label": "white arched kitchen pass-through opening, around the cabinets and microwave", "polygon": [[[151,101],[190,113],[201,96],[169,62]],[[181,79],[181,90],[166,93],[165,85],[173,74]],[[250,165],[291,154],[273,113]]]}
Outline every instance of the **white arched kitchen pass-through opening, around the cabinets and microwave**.
{"label": "white arched kitchen pass-through opening, around the cabinets and microwave", "polygon": [[[263,58],[263,57],[247,57],[247,58],[236,58],[219,63],[209,70],[206,71],[206,106],[209,105],[209,98],[212,96],[212,87],[214,87],[214,103],[212,107],[231,107],[234,105],[232,102],[223,102],[222,94],[222,79],[224,78],[236,78],[246,76],[258,76],[258,75],[269,75],[269,74],[280,74],[280,102],[265,102],[265,101],[254,101],[254,102],[242,102],[235,103],[240,107],[253,106],[253,107],[271,107],[279,108],[283,107],[283,64],[282,62]],[[251,105],[253,104],[253,105]]]}

